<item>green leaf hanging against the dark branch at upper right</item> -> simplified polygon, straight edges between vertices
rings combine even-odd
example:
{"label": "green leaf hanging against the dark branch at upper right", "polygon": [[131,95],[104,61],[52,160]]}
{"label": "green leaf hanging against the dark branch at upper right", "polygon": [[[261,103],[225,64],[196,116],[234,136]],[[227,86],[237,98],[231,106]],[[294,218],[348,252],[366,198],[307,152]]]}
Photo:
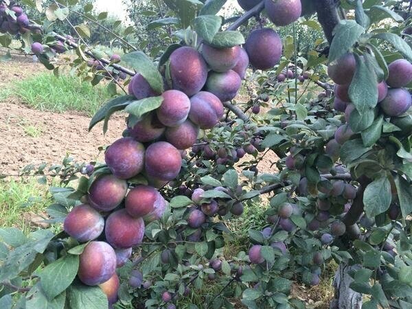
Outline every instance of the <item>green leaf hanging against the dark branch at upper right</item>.
{"label": "green leaf hanging against the dark branch at upper right", "polygon": [[341,21],[334,28],[334,37],[329,50],[329,61],[341,58],[349,52],[350,48],[358,41],[359,36],[365,29],[356,21]]}

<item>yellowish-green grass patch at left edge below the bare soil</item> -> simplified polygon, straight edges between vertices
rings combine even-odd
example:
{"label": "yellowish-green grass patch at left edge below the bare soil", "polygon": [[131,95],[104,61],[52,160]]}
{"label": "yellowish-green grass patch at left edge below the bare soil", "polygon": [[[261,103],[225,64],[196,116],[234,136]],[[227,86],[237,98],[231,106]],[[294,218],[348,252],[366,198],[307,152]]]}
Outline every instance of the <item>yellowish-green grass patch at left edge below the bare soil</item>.
{"label": "yellowish-green grass patch at left edge below the bare soil", "polygon": [[52,197],[47,186],[40,185],[36,178],[0,180],[0,227],[16,227],[25,232],[32,225],[28,214],[42,215]]}

